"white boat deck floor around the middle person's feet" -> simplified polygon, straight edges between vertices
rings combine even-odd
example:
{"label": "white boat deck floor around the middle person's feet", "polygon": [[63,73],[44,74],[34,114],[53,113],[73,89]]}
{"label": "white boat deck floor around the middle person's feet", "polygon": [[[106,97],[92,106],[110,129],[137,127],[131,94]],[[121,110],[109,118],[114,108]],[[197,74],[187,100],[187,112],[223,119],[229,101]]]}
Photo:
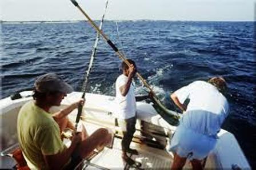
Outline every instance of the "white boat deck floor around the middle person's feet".
{"label": "white boat deck floor around the middle person's feet", "polygon": [[[72,115],[72,114],[71,114]],[[87,116],[86,116],[87,117]],[[90,117],[90,116],[89,116]],[[110,120],[109,120],[110,121]],[[85,168],[99,168],[99,169],[135,169],[129,167],[122,160],[122,149],[121,149],[121,137],[122,134],[114,129],[114,126],[110,126],[110,123],[106,121],[107,124],[97,124],[93,122],[92,119],[86,119],[81,121],[86,127],[89,135],[93,133],[96,129],[101,127],[108,127],[113,131],[117,132],[117,136],[114,139],[113,148],[105,147],[103,151],[99,152],[98,155],[90,160],[90,163],[85,166]],[[138,125],[137,125],[138,126]],[[139,132],[135,132],[134,139],[131,142],[130,147],[137,149],[139,155],[129,155],[133,160],[142,164],[141,169],[168,169],[171,167],[173,162],[173,154],[167,152],[165,149],[158,149],[150,147],[143,143],[139,139]],[[190,164],[187,163],[185,168],[191,168]]]}

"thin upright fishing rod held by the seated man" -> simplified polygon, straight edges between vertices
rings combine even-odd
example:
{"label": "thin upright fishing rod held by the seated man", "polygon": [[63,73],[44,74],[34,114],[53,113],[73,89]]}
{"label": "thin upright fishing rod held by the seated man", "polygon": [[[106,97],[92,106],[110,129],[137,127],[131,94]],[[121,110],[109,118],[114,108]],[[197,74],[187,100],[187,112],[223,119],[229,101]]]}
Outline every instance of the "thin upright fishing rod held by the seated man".
{"label": "thin upright fishing rod held by the seated man", "polygon": [[[101,23],[99,24],[99,30],[102,29],[103,21],[104,21],[105,14],[106,14],[106,11],[107,11],[108,3],[109,3],[109,0],[106,0],[105,11],[102,15]],[[82,86],[82,90],[81,90],[81,91],[83,91],[83,94],[82,94],[81,98],[84,99],[84,100],[85,100],[85,92],[86,92],[86,87],[87,87],[87,83],[88,83],[88,80],[89,80],[89,75],[90,75],[90,72],[91,72],[91,68],[93,67],[93,62],[94,62],[94,58],[95,58],[95,54],[96,54],[96,50],[97,50],[96,47],[97,47],[98,41],[99,41],[99,32],[97,32],[96,39],[95,39],[95,42],[94,42],[94,46],[93,46],[93,49],[91,50],[91,59],[90,59],[88,70],[86,71],[86,74],[85,74],[85,79],[83,81],[83,86]],[[81,115],[82,115],[82,108],[83,108],[82,104],[79,104],[77,118],[75,119],[75,131],[77,131],[78,123],[79,123],[79,120],[80,120]]]}

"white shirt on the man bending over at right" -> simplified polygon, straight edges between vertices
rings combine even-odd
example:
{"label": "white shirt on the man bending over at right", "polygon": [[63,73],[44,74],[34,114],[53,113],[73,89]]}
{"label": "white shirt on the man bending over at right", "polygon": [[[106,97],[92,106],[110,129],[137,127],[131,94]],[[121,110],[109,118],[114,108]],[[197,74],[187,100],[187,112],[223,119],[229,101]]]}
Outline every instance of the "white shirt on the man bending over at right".
{"label": "white shirt on the man bending over at right", "polygon": [[175,91],[181,103],[190,99],[181,125],[195,132],[215,136],[229,112],[225,96],[210,83],[195,81]]}

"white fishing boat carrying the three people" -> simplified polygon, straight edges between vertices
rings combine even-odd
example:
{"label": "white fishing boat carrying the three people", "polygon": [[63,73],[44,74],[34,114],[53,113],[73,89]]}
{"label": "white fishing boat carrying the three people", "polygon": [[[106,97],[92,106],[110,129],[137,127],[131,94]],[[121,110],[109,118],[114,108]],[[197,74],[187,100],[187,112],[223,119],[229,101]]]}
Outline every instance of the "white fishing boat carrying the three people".
{"label": "white fishing boat carrying the three people", "polygon": [[[8,97],[0,101],[1,124],[1,167],[13,168],[15,161],[11,152],[18,148],[17,116],[23,104],[33,100],[32,91],[22,91],[18,99]],[[81,98],[82,92],[72,92],[63,99],[61,106],[52,107],[51,112],[61,110],[69,104]],[[129,167],[122,160],[121,139],[122,132],[115,115],[115,98],[113,96],[86,93],[86,104],[83,107],[80,120],[89,133],[95,129],[105,127],[115,132],[113,146],[105,147],[100,152],[95,152],[90,159],[82,161],[83,169],[167,169],[173,162],[173,153],[166,151],[166,145],[170,144],[171,136],[176,127],[166,122],[152,103],[137,102],[136,132],[131,143],[131,148],[137,149],[139,155],[129,155],[135,161],[141,163],[141,167]],[[75,122],[77,110],[69,115],[69,119]],[[218,142],[214,150],[207,157],[205,169],[251,169],[234,135],[225,129],[218,133]],[[69,145],[69,140],[64,140]],[[185,168],[191,168],[187,161]]]}

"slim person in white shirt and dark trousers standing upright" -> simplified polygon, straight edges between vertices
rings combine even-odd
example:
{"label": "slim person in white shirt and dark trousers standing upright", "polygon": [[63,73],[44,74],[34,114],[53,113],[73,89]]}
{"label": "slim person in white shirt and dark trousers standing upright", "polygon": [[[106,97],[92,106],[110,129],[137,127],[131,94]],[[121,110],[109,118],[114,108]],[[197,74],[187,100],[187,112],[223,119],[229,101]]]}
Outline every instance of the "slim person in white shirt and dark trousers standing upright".
{"label": "slim person in white shirt and dark trousers standing upright", "polygon": [[136,74],[135,62],[131,59],[127,59],[127,62],[131,64],[129,67],[125,62],[122,62],[122,75],[118,76],[115,82],[116,90],[116,101],[118,104],[118,116],[119,124],[123,131],[122,139],[122,158],[129,165],[133,165],[135,161],[127,156],[128,153],[138,155],[136,149],[130,148],[131,140],[133,139],[133,134],[135,132],[136,123],[136,100],[145,100],[149,98],[146,96],[136,96],[134,86],[132,83],[133,77]]}

